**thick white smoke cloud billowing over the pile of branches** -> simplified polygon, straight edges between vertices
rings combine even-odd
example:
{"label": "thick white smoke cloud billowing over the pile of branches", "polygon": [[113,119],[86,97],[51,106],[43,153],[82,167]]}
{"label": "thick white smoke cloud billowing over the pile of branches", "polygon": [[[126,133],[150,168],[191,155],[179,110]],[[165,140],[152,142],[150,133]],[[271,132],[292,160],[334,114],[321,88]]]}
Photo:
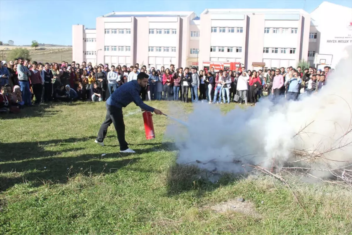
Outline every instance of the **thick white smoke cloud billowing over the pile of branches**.
{"label": "thick white smoke cloud billowing over the pile of branches", "polygon": [[[166,129],[165,137],[174,140],[179,149],[177,163],[209,171],[216,168],[218,172],[245,173],[251,164],[270,168],[274,162],[282,166],[297,160],[292,149],[319,154],[334,148],[324,154],[325,158],[315,160],[314,167],[331,169],[351,164],[351,144],[339,149],[352,141],[352,133],[346,134],[351,129],[352,47],[348,52],[348,58],[340,61],[327,85],[316,94],[302,94],[300,101],[273,105],[264,98],[256,106],[236,108],[226,114],[221,113],[219,105],[205,103],[195,104],[190,114],[171,107],[170,116],[189,124],[184,127],[170,120]],[[293,164],[302,166],[302,162]]]}

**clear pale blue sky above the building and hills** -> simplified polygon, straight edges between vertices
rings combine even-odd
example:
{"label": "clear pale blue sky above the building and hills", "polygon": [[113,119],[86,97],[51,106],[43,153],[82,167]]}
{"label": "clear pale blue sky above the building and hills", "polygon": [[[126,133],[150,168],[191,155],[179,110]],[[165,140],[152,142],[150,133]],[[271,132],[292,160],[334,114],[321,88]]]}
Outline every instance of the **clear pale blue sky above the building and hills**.
{"label": "clear pale blue sky above the building and hills", "polygon": [[[0,0],[0,41],[15,45],[71,45],[72,25],[95,28],[96,17],[115,11],[194,11],[206,8],[301,8],[308,13],[322,0]],[[351,0],[329,2],[352,8]],[[55,5],[56,6],[55,6]]]}

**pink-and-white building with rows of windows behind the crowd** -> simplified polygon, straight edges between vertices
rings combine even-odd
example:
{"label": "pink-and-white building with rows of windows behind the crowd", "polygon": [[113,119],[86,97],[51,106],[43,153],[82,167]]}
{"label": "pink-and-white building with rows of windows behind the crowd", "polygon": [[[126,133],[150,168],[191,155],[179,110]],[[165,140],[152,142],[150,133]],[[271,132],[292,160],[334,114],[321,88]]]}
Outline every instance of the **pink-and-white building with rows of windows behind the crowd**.
{"label": "pink-and-white building with rows of windows behind the crowd", "polygon": [[310,16],[297,9],[206,9],[112,12],[95,29],[73,25],[73,60],[134,65],[197,66],[240,62],[248,69],[296,66],[307,60]]}

